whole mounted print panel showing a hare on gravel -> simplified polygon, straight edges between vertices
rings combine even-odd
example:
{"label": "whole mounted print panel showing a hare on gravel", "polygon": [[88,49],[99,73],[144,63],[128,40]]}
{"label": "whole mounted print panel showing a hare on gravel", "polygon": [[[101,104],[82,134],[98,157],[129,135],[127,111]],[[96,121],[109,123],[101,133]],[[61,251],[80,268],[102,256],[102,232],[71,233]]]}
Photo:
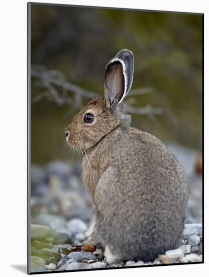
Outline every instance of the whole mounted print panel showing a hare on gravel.
{"label": "whole mounted print panel showing a hare on gravel", "polygon": [[28,3],[28,273],[203,262],[202,32]]}

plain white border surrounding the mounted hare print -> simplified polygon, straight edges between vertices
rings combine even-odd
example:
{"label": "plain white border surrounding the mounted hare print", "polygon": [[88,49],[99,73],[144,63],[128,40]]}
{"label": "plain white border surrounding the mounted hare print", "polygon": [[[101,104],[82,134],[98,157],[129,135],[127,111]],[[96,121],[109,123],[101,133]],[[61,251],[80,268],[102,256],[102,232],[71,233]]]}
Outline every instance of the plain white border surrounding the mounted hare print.
{"label": "plain white border surrounding the mounted hare print", "polygon": [[[75,4],[87,6],[104,6],[131,9],[150,9],[161,11],[179,11],[204,13],[205,30],[205,165],[209,164],[208,153],[208,122],[209,113],[206,105],[208,99],[208,61],[209,61],[209,43],[208,43],[208,18],[209,10],[207,1],[135,1],[121,2],[121,0],[106,1],[40,1],[40,3],[59,3]],[[10,0],[1,3],[1,275],[19,276],[23,272],[14,268],[14,265],[26,265],[26,133],[27,133],[27,48],[26,48],[26,0]],[[209,195],[208,170],[205,171],[204,180],[204,199],[205,214],[207,215]],[[206,181],[207,180],[207,181]],[[208,260],[209,245],[208,221],[205,219],[205,261]],[[12,266],[13,265],[13,266]],[[149,268],[131,268],[103,271],[86,271],[71,273],[56,273],[54,277],[65,276],[120,276],[138,274],[146,276],[177,276],[177,275],[202,275],[203,270],[208,270],[208,264],[192,264],[179,266],[149,267]],[[43,274],[42,276],[49,276]],[[50,275],[51,276],[51,275]]]}

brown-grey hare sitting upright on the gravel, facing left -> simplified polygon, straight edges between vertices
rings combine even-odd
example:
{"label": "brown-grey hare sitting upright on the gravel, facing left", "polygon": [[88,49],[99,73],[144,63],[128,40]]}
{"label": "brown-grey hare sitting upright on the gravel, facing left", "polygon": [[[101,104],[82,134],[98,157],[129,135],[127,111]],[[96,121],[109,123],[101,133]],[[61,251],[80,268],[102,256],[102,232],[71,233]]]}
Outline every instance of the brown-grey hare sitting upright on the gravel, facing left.
{"label": "brown-grey hare sitting upright on the gravel, facing left", "polygon": [[91,100],[65,130],[81,150],[82,179],[95,206],[94,244],[108,263],[151,261],[180,244],[187,178],[154,135],[131,127],[122,100],[133,79],[133,54],[121,50],[106,65],[104,96]]}

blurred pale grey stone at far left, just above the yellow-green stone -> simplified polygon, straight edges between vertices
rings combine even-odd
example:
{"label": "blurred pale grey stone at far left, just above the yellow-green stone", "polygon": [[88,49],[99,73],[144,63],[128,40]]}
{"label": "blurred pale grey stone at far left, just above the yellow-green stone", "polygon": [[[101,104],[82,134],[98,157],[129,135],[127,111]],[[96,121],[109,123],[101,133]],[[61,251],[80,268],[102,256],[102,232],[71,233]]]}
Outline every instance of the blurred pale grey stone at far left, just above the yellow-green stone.
{"label": "blurred pale grey stone at far left, just above the yellow-green stone", "polygon": [[61,217],[48,214],[40,214],[33,219],[33,224],[48,226],[51,229],[64,227],[65,222]]}

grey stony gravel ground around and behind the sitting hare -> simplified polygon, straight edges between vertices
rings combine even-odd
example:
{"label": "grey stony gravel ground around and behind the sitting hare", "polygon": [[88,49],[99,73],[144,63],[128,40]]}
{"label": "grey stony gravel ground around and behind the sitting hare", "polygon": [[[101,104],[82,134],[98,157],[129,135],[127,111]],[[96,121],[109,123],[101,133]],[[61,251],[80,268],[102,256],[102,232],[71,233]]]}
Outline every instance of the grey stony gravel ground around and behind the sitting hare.
{"label": "grey stony gravel ground around and behind the sitting hare", "polygon": [[79,165],[55,161],[44,167],[31,167],[31,272],[201,261],[202,176],[195,173],[198,153],[178,145],[169,147],[185,168],[190,183],[178,249],[151,262],[108,264],[103,250],[89,244],[94,216],[88,193],[81,185]]}

